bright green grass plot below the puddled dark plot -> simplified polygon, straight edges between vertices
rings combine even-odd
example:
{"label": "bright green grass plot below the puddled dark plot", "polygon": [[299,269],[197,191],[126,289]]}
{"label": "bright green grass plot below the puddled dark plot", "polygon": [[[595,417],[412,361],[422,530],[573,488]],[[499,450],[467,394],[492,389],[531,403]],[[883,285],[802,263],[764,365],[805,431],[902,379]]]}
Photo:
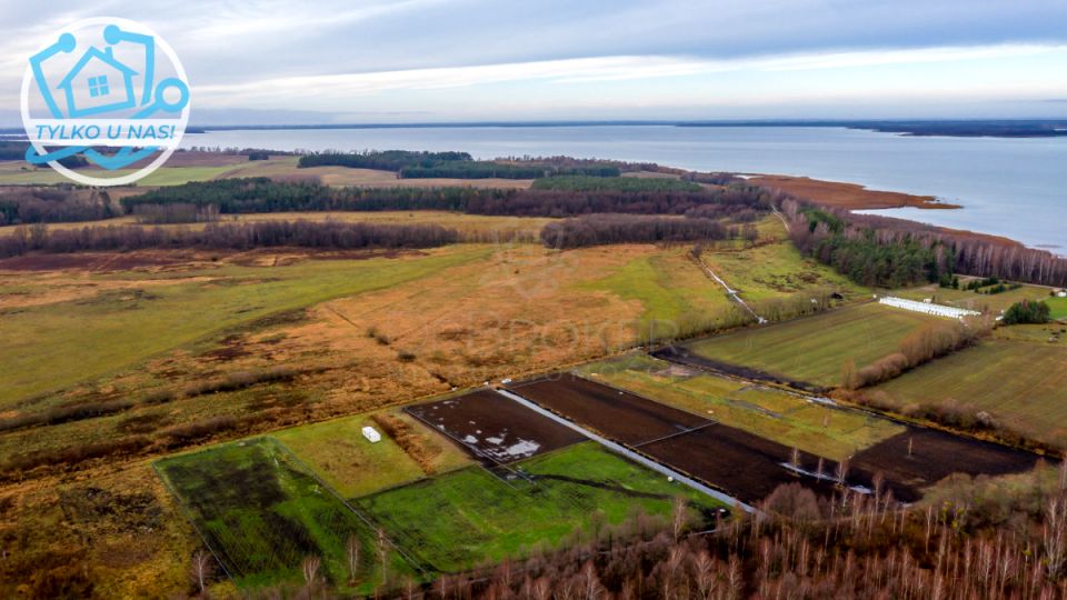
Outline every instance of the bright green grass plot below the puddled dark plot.
{"label": "bright green grass plot below the puddled dark plot", "polygon": [[677,496],[704,509],[718,508],[710,498],[668,482],[594,442],[513,467],[544,479],[509,484],[480,467],[470,467],[365,497],[357,504],[402,548],[445,571],[487,559],[521,557],[538,547],[558,547],[576,530],[588,539],[598,522],[620,523],[638,511],[667,517]]}

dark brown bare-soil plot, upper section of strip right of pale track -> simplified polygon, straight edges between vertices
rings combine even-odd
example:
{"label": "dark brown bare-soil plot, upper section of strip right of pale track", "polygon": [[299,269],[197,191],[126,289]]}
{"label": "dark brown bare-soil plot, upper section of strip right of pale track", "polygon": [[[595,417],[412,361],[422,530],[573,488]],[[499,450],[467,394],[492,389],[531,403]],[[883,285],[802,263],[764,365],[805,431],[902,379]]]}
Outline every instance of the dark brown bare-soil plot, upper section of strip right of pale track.
{"label": "dark brown bare-soil plot, upper section of strip right of pale track", "polygon": [[516,393],[588,426],[608,438],[637,446],[710,423],[696,414],[652,402],[567,373],[510,386]]}

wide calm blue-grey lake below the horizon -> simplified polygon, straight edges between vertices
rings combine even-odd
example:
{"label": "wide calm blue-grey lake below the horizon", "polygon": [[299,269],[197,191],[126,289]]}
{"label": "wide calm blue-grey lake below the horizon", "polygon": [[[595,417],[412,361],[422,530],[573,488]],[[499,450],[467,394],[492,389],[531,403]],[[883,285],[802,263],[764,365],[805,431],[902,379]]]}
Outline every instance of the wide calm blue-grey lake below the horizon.
{"label": "wide calm blue-grey lake below the horizon", "polygon": [[216,131],[185,146],[276,150],[462,150],[476,158],[556,156],[701,171],[808,176],[936,196],[963,210],[878,211],[1067,247],[1067,138],[909,138],[836,128],[667,126]]}

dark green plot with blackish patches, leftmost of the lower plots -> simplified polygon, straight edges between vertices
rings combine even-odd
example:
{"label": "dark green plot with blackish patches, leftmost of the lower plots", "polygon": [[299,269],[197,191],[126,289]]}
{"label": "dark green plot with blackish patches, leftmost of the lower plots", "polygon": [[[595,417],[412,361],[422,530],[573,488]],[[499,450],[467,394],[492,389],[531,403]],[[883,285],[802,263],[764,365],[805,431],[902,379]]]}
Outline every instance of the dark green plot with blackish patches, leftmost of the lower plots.
{"label": "dark green plot with blackish patches, leftmost of the lower plots", "polygon": [[[301,582],[305,557],[322,560],[321,574],[345,589],[345,547],[360,541],[359,573],[351,591],[382,581],[376,530],[323,489],[285,448],[253,438],[157,462],[157,469],[240,587]],[[396,552],[388,577],[410,577]]]}

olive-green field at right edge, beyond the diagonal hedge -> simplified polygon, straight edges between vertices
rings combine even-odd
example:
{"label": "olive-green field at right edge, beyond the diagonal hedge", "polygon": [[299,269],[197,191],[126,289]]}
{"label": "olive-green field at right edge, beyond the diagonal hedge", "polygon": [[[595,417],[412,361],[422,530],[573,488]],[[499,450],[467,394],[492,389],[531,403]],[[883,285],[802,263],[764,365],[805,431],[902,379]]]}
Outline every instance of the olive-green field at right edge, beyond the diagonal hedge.
{"label": "olive-green field at right edge, beyond the diagonal hedge", "polygon": [[[1016,329],[1015,326],[1007,329]],[[1049,343],[1045,328],[1030,328],[1033,341],[983,342],[882,383],[871,393],[898,409],[909,406],[987,411],[1028,437],[1067,443],[1067,343]]]}

